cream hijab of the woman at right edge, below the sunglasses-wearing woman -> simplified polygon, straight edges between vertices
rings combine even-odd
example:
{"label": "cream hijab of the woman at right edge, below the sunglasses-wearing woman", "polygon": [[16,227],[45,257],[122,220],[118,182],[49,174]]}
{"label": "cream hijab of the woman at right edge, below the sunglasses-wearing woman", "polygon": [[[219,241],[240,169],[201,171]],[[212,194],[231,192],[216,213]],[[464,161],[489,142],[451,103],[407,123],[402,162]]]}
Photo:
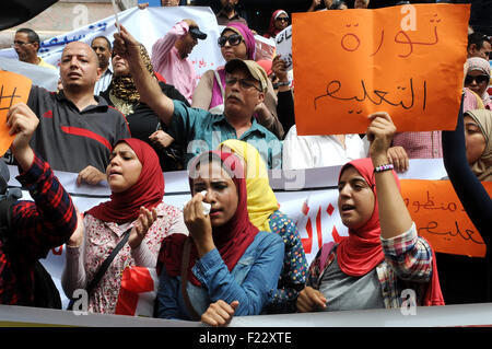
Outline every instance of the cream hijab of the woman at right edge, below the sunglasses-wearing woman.
{"label": "cream hijab of the woman at right edge, below the sunglasses-wearing woman", "polygon": [[492,182],[492,112],[476,109],[468,110],[465,115],[468,115],[477,123],[485,138],[485,150],[480,159],[471,165],[471,171],[481,182]]}

